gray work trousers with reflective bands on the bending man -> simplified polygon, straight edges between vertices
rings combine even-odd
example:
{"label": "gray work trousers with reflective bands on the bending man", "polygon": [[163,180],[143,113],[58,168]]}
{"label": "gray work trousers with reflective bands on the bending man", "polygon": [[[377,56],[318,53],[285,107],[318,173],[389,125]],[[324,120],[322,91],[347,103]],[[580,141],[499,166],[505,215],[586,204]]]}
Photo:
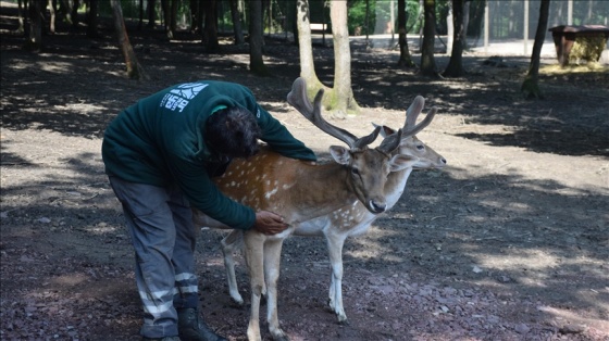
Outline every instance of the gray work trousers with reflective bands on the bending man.
{"label": "gray work trousers with reflective bands on the bending man", "polygon": [[123,205],[135,249],[135,278],[144,305],[146,338],[177,336],[178,308],[198,311],[196,235],[190,205],[176,187],[109,177]]}

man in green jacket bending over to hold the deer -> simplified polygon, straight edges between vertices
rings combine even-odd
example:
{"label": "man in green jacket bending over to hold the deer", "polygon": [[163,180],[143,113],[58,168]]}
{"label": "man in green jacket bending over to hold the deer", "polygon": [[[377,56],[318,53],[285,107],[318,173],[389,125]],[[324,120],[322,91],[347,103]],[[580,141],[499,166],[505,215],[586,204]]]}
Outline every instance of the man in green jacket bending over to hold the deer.
{"label": "man in green jacket bending over to hold the deer", "polygon": [[281,216],[232,201],[211,180],[231,159],[253,155],[258,139],[286,156],[315,160],[249,89],[232,83],[170,87],[121,112],[105,130],[102,156],[135,249],[144,340],[224,340],[198,310],[190,205],[233,228],[287,228]]}

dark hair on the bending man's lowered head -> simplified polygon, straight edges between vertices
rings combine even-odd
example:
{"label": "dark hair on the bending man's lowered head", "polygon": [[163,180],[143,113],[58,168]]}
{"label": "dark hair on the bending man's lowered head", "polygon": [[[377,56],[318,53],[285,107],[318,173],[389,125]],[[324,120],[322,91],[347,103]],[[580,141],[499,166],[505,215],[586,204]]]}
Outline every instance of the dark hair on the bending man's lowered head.
{"label": "dark hair on the bending man's lowered head", "polygon": [[260,127],[251,112],[229,106],[213,113],[206,125],[208,147],[229,157],[248,157],[258,153]]}

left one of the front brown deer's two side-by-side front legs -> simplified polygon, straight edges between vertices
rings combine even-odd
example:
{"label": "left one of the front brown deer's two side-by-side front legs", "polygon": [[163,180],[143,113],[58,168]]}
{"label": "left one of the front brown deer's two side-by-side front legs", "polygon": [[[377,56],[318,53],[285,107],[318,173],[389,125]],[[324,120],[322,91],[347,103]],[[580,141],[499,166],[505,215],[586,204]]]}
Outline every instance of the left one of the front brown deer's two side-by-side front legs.
{"label": "left one of the front brown deer's two side-by-side front legs", "polygon": [[264,235],[254,230],[246,231],[244,232],[244,244],[251,290],[251,307],[247,336],[249,341],[261,341],[260,296],[264,286]]}

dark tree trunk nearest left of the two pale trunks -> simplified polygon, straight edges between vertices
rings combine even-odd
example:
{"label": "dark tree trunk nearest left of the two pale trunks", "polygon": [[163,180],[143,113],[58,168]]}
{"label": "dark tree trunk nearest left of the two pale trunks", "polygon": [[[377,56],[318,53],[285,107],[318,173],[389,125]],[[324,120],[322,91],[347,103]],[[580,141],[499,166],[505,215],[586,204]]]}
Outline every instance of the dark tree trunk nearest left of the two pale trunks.
{"label": "dark tree trunk nearest left of the two pale trunks", "polygon": [[270,76],[262,58],[262,0],[249,1],[249,70],[258,76]]}

